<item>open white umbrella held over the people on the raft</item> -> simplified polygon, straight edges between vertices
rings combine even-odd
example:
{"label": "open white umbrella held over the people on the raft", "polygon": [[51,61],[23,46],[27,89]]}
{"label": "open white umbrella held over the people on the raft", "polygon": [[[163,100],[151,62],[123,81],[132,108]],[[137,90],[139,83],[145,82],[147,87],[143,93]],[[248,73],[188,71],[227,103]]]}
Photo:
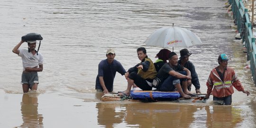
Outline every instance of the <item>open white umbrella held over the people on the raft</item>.
{"label": "open white umbrella held over the people on the raft", "polygon": [[189,47],[202,44],[201,39],[183,27],[162,27],[147,37],[146,46]]}

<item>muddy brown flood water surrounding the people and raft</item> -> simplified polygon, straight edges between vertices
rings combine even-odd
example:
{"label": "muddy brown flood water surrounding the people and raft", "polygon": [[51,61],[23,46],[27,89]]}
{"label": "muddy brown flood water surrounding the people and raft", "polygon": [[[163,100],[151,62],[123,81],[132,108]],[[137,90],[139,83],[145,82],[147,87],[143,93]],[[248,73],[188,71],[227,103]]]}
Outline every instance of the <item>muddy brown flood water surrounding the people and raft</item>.
{"label": "muddy brown flood water surrounding the people and raft", "polygon": [[[226,0],[1,0],[0,3],[0,127],[1,128],[253,128],[256,91],[243,47],[231,29]],[[126,70],[139,63],[144,46],[153,61],[161,47],[145,46],[157,28],[185,27],[201,38],[191,46],[206,93],[206,81],[226,53],[251,95],[235,91],[231,106],[175,102],[102,102],[95,91],[98,64],[114,48]],[[44,38],[39,52],[44,70],[38,73],[37,94],[23,94],[22,61],[11,52],[21,37],[36,32]],[[37,44],[38,47],[38,44]],[[22,44],[21,48],[27,48]],[[172,48],[170,48],[171,50]],[[174,47],[179,55],[182,47]],[[114,91],[127,82],[117,73]],[[192,86],[192,92],[194,87]],[[10,121],[11,120],[11,121]]]}

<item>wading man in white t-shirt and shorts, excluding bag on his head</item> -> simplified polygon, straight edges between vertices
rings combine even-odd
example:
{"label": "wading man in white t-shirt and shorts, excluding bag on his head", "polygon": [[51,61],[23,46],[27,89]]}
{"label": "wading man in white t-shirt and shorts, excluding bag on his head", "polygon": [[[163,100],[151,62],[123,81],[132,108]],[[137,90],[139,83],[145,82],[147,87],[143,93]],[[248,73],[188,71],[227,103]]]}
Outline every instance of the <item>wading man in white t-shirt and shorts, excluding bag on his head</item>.
{"label": "wading man in white t-shirt and shorts, excluding bag on his head", "polygon": [[[29,89],[37,90],[38,75],[37,72],[43,71],[43,56],[37,53],[36,46],[37,41],[27,41],[28,49],[19,49],[19,47],[24,43],[21,40],[18,45],[16,45],[12,52],[18,54],[22,59],[23,72],[21,76],[21,84],[23,92],[28,92]],[[38,67],[39,66],[39,67]]]}

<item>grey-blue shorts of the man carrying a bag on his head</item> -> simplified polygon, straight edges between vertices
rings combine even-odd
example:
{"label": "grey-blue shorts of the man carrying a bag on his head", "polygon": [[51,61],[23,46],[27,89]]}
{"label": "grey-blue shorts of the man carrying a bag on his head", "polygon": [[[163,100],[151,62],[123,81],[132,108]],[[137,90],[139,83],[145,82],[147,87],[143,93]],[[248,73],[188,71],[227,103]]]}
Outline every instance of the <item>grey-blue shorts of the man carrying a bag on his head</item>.
{"label": "grey-blue shorts of the man carrying a bag on his head", "polygon": [[31,89],[34,83],[39,83],[37,72],[22,73],[20,83],[28,84],[29,88]]}

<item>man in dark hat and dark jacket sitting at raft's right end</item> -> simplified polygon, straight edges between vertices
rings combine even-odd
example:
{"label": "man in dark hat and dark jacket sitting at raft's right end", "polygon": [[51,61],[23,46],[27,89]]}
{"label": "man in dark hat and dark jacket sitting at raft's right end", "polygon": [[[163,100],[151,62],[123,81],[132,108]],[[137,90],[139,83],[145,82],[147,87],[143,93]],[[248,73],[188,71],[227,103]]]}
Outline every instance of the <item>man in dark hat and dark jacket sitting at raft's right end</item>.
{"label": "man in dark hat and dark jacket sitting at raft's right end", "polygon": [[188,80],[188,90],[191,91],[191,84],[195,86],[196,93],[201,93],[200,91],[200,83],[198,79],[198,75],[195,71],[195,66],[192,64],[191,61],[189,61],[189,56],[192,55],[192,53],[189,53],[187,48],[184,48],[180,50],[180,60],[178,61],[179,64],[181,64],[183,67],[187,68],[191,72],[191,80]]}

